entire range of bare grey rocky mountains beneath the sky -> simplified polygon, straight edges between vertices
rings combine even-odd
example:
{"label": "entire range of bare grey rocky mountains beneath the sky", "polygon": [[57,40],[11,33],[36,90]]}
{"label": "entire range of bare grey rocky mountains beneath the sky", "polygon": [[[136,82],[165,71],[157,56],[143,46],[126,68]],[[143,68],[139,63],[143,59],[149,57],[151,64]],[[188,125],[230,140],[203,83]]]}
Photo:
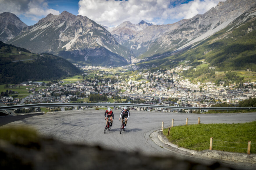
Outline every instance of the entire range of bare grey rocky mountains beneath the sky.
{"label": "entire range of bare grey rocky mountains beneath the sky", "polygon": [[[153,25],[145,21],[133,24],[126,21],[115,28],[64,11],[60,15],[49,14],[33,26],[25,25],[22,31],[17,30],[19,33],[15,34],[19,35],[14,37],[14,33],[7,34],[4,30],[7,37],[4,42],[35,53],[49,52],[74,63],[118,66],[166,57],[171,62],[170,56],[182,55],[181,52],[197,47],[212,36],[216,37],[218,32],[222,32],[219,37],[222,39],[225,32],[253,20],[255,9],[255,0],[227,0],[219,2],[205,14],[173,24]],[[253,26],[250,29],[250,32],[255,31]],[[0,38],[3,39],[3,36]],[[204,50],[207,52],[211,48],[205,47]]]}

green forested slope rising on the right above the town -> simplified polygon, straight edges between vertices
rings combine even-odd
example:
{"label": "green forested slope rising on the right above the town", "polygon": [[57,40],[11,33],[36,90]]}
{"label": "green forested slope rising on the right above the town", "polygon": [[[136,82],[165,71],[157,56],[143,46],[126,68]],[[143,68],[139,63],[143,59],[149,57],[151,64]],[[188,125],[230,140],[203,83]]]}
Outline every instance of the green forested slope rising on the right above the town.
{"label": "green forested slope rising on the right above the town", "polygon": [[[182,73],[190,79],[241,83],[244,77],[239,77],[237,70],[256,72],[256,17],[242,19],[243,16],[187,51],[137,65],[142,69],[154,67],[153,70],[158,70],[182,64],[191,66]],[[220,77],[217,72],[225,73]]]}

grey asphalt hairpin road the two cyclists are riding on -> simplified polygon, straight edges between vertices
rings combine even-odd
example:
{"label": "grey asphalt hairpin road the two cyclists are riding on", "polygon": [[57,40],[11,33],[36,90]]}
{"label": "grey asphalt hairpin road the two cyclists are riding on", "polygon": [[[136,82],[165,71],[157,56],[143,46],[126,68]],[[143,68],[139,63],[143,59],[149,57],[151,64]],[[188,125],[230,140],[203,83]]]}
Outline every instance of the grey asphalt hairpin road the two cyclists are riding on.
{"label": "grey asphalt hairpin road the two cyclists are riding on", "polygon": [[[114,110],[114,122],[110,131],[103,133],[105,126],[103,110],[60,111],[47,114],[26,114],[6,116],[0,118],[0,126],[26,124],[33,126],[40,134],[52,136],[65,142],[101,145],[115,150],[139,151],[145,155],[167,156],[175,155],[182,159],[189,159],[204,164],[212,164],[210,159],[179,155],[155,144],[150,134],[164,127],[170,127],[174,119],[174,126],[200,123],[246,123],[256,119],[256,113],[230,113],[230,114],[186,114],[130,111],[130,118],[125,132],[120,134],[121,121],[118,120],[120,110]],[[255,169],[252,164],[227,163],[234,169]]]}

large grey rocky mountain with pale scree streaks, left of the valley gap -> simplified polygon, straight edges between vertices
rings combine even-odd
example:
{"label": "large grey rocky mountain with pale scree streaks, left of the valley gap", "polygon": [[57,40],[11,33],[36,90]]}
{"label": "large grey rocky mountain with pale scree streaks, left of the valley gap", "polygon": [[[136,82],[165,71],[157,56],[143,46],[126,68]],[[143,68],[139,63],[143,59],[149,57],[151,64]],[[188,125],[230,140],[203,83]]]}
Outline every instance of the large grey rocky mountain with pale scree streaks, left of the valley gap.
{"label": "large grey rocky mountain with pale scree streaks, left of the valley gap", "polygon": [[60,15],[48,14],[6,43],[34,53],[49,52],[71,62],[93,65],[124,65],[134,58],[133,53],[101,25],[67,11]]}

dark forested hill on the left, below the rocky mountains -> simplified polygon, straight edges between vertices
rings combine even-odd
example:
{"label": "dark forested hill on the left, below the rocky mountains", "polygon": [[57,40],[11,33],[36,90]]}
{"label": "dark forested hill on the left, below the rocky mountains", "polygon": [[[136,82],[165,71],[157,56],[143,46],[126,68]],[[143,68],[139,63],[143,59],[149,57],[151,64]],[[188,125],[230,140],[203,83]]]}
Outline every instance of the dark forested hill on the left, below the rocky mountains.
{"label": "dark forested hill on the left, below the rocky mountains", "polygon": [[79,73],[67,60],[52,54],[33,54],[0,42],[0,84],[58,79]]}

